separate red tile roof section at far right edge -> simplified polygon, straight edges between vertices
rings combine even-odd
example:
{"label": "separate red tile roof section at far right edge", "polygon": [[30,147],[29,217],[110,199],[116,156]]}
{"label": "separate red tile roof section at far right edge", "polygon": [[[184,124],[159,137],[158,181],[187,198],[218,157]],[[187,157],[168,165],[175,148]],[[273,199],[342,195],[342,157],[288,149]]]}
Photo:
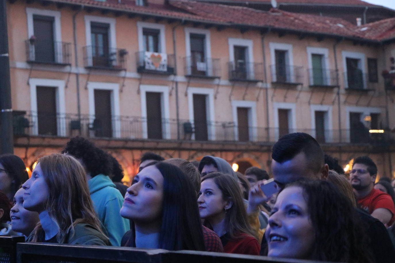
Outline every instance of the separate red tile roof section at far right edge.
{"label": "separate red tile roof section at far right edge", "polygon": [[364,24],[356,27],[356,29],[366,38],[379,41],[395,39],[395,17]]}

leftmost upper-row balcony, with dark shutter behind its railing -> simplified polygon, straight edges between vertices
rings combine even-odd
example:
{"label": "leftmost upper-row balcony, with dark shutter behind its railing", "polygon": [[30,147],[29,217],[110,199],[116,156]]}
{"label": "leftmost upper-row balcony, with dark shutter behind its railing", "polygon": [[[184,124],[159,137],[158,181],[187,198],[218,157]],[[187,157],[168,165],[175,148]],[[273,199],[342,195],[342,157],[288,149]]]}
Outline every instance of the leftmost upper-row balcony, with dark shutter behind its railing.
{"label": "leftmost upper-row balcony, with dark shutter behind its railing", "polygon": [[71,43],[58,41],[25,41],[26,61],[28,63],[70,65]]}

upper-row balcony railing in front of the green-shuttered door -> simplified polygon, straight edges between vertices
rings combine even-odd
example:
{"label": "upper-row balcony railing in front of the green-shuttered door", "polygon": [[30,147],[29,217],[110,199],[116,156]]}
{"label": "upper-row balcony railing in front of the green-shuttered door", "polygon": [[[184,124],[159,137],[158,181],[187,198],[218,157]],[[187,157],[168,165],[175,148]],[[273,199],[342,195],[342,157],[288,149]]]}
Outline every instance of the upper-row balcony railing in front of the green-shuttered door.
{"label": "upper-row balcony railing in front of the green-shuttered door", "polygon": [[335,88],[339,87],[336,69],[308,69],[310,87]]}

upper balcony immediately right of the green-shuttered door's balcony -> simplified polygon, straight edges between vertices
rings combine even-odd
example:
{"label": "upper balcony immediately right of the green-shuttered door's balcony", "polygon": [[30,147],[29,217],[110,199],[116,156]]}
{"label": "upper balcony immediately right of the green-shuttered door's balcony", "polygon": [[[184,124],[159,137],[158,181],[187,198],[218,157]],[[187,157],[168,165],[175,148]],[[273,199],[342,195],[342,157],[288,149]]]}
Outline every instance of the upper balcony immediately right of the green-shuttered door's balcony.
{"label": "upper balcony immediately right of the green-shuttered door's balcony", "polygon": [[344,88],[354,91],[376,90],[378,83],[369,81],[369,74],[363,73],[360,69],[346,71],[343,73]]}

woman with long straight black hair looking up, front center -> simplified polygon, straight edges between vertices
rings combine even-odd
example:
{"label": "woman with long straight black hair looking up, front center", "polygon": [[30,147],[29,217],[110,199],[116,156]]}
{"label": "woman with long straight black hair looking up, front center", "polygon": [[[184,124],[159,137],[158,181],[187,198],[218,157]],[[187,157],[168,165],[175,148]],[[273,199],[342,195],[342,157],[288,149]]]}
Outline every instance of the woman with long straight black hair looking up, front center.
{"label": "woman with long straight black hair looking up, front center", "polygon": [[172,164],[146,166],[134,177],[120,210],[133,220],[121,246],[205,250],[196,190]]}

